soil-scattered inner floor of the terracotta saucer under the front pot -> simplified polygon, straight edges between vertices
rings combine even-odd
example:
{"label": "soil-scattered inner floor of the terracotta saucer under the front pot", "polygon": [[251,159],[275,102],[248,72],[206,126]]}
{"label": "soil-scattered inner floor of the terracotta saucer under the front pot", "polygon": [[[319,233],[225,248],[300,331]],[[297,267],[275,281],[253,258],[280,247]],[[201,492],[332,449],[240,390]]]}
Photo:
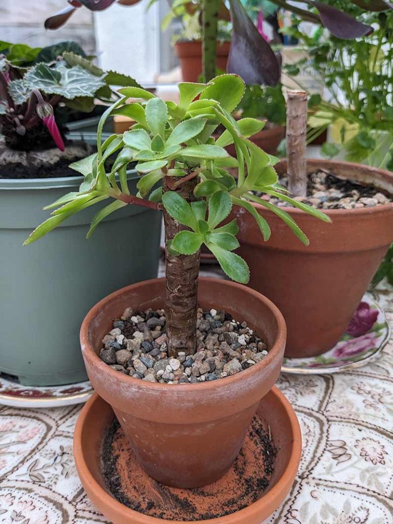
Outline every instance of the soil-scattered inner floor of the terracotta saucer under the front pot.
{"label": "soil-scattered inner floor of the terracotta saucer under the front pot", "polygon": [[208,520],[241,510],[264,493],[274,472],[276,449],[254,417],[236,461],[219,481],[202,488],[171,488],[139,466],[117,419],[102,445],[101,468],[107,487],[121,503],[144,515],[168,520]]}

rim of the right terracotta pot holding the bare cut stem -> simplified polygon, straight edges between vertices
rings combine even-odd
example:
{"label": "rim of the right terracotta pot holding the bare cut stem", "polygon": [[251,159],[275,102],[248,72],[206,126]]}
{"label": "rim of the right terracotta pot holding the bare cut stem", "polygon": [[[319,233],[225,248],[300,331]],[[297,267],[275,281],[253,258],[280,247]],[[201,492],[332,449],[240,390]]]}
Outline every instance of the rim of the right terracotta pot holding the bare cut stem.
{"label": "rim of the right terracotta pot holding the bare cut stem", "polygon": [[[285,164],[286,160],[282,159],[282,160],[280,160],[279,163],[280,164]],[[342,166],[344,166],[344,167],[347,166],[348,168],[356,167],[357,169],[366,169],[366,170],[369,170],[369,171],[376,171],[376,172],[379,172],[381,174],[384,174],[385,176],[390,177],[392,179],[392,182],[393,182],[393,173],[391,171],[387,171],[386,169],[379,169],[379,168],[375,168],[375,167],[372,167],[372,166],[366,166],[366,165],[362,165],[362,164],[357,164],[355,162],[346,162],[344,160],[340,160],[340,161],[337,161],[337,160],[323,160],[323,159],[318,159],[318,158],[308,158],[307,159],[307,165],[308,166],[309,165],[313,166],[313,165],[318,164],[318,163],[323,163],[326,166],[327,169],[329,169],[329,166],[341,164]],[[308,171],[309,171],[309,168],[308,168]],[[266,209],[265,206],[263,206],[261,204],[258,204],[256,202],[252,202],[252,204],[256,208],[258,208],[258,209],[263,209],[266,212],[272,213],[272,211]],[[285,210],[287,213],[304,215],[304,211],[302,211],[299,208],[292,208],[291,206],[286,206],[285,208],[282,208],[282,209]],[[370,213],[391,211],[392,209],[393,209],[393,202],[390,202],[388,204],[379,204],[379,205],[376,205],[376,206],[370,207],[370,208],[321,209],[319,211],[323,211],[323,213],[325,213],[325,215],[328,215],[328,216],[351,215],[351,217],[353,217],[353,215],[369,215]],[[315,220],[315,218],[313,216],[311,216],[311,215],[309,215],[309,216],[310,216],[310,218],[312,220]]]}

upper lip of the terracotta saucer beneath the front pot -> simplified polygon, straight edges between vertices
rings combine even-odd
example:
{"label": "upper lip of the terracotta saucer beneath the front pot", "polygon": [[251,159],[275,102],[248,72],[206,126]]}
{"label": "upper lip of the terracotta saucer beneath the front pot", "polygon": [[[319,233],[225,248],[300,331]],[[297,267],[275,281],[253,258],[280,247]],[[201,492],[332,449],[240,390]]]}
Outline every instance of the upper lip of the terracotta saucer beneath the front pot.
{"label": "upper lip of the terracotta saucer beneath the front pot", "polygon": [[73,454],[75,464],[77,465],[78,474],[81,475],[80,472],[83,470],[83,477],[85,479],[85,483],[88,484],[91,489],[94,489],[96,493],[99,493],[100,499],[106,506],[111,505],[114,506],[115,509],[117,508],[117,511],[119,511],[119,514],[121,512],[123,518],[137,518],[139,522],[143,521],[144,524],[216,524],[217,522],[220,522],[221,524],[222,522],[224,522],[223,519],[225,519],[226,524],[236,524],[237,522],[239,522],[239,517],[245,519],[246,516],[248,516],[250,513],[257,511],[257,509],[260,506],[263,506],[265,504],[271,505],[272,501],[275,507],[277,508],[283,500],[283,490],[285,491],[285,495],[287,495],[288,490],[286,489],[286,484],[288,482],[288,478],[294,478],[298,471],[299,460],[302,452],[302,435],[296,412],[294,411],[287,397],[277,388],[277,386],[273,386],[269,394],[275,395],[276,398],[280,400],[288,417],[290,431],[293,436],[292,451],[288,460],[288,464],[285,468],[285,471],[278,479],[276,484],[271,489],[269,489],[266,494],[264,494],[258,500],[256,500],[255,503],[250,504],[246,508],[235,511],[230,515],[208,520],[191,521],[159,519],[157,517],[150,517],[148,515],[144,515],[142,513],[139,513],[138,511],[128,508],[127,506],[121,504],[118,500],[116,500],[112,495],[110,495],[99,483],[96,482],[94,476],[89,470],[88,465],[86,464],[84,455],[82,453],[82,428],[84,426],[85,419],[88,416],[89,410],[91,409],[91,405],[93,405],[93,403],[96,401],[96,398],[99,397],[97,393],[94,393],[93,396],[85,403],[81,413],[79,414],[77,424],[75,425],[75,432],[73,437]]}

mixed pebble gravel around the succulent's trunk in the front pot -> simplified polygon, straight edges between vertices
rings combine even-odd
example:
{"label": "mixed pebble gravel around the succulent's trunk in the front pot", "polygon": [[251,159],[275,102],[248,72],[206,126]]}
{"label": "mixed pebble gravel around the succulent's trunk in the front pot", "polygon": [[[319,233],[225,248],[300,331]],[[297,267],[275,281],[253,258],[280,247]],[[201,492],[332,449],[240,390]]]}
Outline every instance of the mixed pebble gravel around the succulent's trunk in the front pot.
{"label": "mixed pebble gravel around the succulent's trunk in the front pot", "polygon": [[267,345],[224,311],[198,309],[196,353],[167,354],[165,311],[127,308],[105,335],[100,358],[119,373],[161,384],[196,384],[235,375],[261,362]]}

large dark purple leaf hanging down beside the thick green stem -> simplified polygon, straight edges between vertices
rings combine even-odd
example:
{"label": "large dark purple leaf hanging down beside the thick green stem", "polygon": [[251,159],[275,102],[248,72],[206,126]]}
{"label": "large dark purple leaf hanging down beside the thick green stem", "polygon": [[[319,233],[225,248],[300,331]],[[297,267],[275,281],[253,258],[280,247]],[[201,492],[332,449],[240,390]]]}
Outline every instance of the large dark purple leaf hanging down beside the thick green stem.
{"label": "large dark purple leaf hanging down beside the thick green stem", "polygon": [[276,85],[280,66],[267,41],[259,34],[239,0],[230,0],[232,41],[227,72],[238,74],[246,84]]}

